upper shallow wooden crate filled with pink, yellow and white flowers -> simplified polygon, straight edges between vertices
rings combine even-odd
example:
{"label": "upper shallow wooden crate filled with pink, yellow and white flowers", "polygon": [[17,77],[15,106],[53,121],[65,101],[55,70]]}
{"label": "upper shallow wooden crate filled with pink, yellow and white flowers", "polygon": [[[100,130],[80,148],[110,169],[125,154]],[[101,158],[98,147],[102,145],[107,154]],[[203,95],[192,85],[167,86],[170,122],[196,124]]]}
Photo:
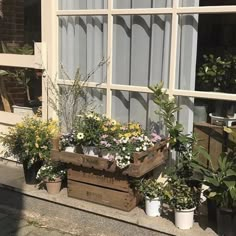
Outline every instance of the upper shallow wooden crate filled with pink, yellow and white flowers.
{"label": "upper shallow wooden crate filled with pink, yellow and white flowers", "polygon": [[165,163],[167,159],[166,141],[149,148],[145,152],[133,154],[133,163],[127,168],[119,169],[116,163],[101,157],[87,156],[79,153],[60,152],[52,150],[51,158],[54,161],[61,161],[76,166],[105,170],[107,172],[119,172],[122,175],[139,178],[156,167]]}

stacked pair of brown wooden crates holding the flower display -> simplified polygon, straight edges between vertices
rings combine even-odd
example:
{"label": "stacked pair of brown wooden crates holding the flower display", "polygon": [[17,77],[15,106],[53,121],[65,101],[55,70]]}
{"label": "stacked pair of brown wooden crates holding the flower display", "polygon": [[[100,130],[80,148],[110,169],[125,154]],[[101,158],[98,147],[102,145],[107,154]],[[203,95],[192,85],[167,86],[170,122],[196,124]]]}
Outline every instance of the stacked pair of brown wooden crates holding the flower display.
{"label": "stacked pair of brown wooden crates holding the flower display", "polygon": [[166,142],[162,142],[145,152],[134,153],[133,163],[125,169],[119,169],[115,162],[101,157],[79,153],[53,150],[51,157],[54,161],[69,165],[69,197],[130,211],[140,200],[130,187],[130,180],[142,177],[164,164],[166,152]]}

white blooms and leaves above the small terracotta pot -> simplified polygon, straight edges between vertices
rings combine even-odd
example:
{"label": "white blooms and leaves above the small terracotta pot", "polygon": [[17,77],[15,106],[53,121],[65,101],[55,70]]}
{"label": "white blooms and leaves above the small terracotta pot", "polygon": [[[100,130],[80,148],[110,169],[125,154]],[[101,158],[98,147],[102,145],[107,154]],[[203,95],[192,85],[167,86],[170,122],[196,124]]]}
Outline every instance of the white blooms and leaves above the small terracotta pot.
{"label": "white blooms and leaves above the small terracotta pot", "polygon": [[57,178],[64,178],[66,175],[65,166],[58,162],[45,163],[37,173],[37,179],[55,181]]}

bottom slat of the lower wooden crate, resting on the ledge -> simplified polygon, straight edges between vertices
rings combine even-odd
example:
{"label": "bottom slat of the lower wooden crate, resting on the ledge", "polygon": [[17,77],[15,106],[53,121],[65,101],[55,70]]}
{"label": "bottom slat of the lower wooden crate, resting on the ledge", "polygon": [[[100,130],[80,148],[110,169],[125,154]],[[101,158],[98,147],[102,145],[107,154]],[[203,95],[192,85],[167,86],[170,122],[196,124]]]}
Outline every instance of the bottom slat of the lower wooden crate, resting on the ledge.
{"label": "bottom slat of the lower wooden crate, resting on the ledge", "polygon": [[68,180],[68,196],[123,211],[131,211],[138,204],[138,198],[134,193],[111,190],[73,180]]}

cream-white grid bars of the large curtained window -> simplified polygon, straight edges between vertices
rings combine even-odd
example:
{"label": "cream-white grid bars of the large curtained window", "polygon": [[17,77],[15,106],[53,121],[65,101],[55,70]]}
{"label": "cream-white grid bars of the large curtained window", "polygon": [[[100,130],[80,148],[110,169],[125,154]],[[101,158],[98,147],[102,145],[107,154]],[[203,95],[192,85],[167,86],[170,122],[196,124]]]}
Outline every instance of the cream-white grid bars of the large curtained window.
{"label": "cream-white grid bars of the large curtained window", "polygon": [[[46,0],[42,0],[46,1]],[[198,97],[198,98],[208,98],[208,99],[220,99],[220,100],[232,100],[236,101],[236,94],[227,93],[216,93],[216,92],[201,92],[201,91],[190,91],[176,89],[176,67],[178,66],[177,58],[177,37],[178,37],[178,20],[180,14],[226,14],[235,13],[236,5],[234,6],[206,6],[206,7],[179,7],[179,0],[173,0],[173,6],[168,8],[137,8],[137,9],[114,9],[113,0],[107,0],[107,9],[88,9],[88,10],[59,10],[58,0],[53,0],[53,39],[54,39],[54,72],[58,71],[59,59],[59,17],[60,16],[107,16],[108,19],[108,39],[107,39],[107,82],[102,84],[97,84],[96,82],[88,82],[87,87],[99,88],[106,90],[106,115],[111,116],[111,106],[112,106],[112,91],[122,90],[129,92],[141,92],[141,93],[151,93],[148,87],[143,86],[132,86],[132,85],[118,85],[112,83],[112,48],[113,48],[113,17],[116,15],[171,15],[171,44],[170,44],[170,67],[169,67],[169,83],[167,91],[170,96],[186,96],[186,97]],[[46,7],[46,6],[45,6]],[[56,17],[54,17],[56,16]],[[56,35],[56,36],[55,36]],[[196,45],[197,46],[197,45]],[[58,85],[60,84],[71,84],[71,81],[59,80],[55,81]]]}

